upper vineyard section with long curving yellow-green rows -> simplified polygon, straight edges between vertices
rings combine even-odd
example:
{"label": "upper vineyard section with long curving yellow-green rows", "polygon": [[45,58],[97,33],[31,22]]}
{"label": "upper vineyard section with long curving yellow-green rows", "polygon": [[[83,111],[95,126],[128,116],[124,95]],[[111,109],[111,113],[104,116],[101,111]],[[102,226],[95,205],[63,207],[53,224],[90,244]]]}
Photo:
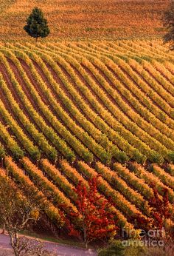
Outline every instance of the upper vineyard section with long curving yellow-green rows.
{"label": "upper vineyard section with long curving yellow-green rows", "polygon": [[1,47],[1,124],[32,158],[172,161],[173,53],[153,44]]}

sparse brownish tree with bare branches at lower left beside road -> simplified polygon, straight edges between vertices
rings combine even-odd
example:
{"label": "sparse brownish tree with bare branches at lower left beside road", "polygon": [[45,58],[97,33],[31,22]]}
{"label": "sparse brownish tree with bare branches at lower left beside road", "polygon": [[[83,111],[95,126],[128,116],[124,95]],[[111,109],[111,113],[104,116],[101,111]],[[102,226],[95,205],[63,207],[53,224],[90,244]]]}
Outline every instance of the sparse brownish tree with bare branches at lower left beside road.
{"label": "sparse brownish tree with bare branches at lower left beside road", "polygon": [[33,221],[38,220],[43,198],[30,190],[21,194],[13,181],[0,176],[0,223],[10,235],[10,244],[15,256],[20,256],[20,239],[18,232],[24,230]]}

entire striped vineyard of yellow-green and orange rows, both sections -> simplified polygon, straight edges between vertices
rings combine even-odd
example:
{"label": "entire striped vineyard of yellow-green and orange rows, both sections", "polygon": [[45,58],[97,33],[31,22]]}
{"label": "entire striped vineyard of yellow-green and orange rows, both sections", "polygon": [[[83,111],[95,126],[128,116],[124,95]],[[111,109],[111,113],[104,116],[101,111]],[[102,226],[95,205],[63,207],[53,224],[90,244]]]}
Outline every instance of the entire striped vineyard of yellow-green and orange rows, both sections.
{"label": "entire striped vineyard of yellow-green and orange rows, both sections", "polygon": [[172,212],[173,77],[157,40],[1,44],[0,175],[46,192],[55,229],[77,212],[75,186],[95,177],[119,227],[150,215],[152,183]]}

